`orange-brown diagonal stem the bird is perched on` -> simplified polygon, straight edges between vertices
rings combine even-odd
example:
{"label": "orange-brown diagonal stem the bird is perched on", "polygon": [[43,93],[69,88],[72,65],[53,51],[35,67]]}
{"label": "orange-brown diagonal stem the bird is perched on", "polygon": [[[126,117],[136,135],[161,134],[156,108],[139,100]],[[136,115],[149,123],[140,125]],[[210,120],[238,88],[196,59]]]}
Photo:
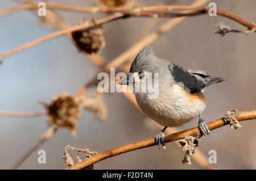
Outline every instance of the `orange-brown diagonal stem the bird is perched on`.
{"label": "orange-brown diagonal stem the bird is perched on", "polygon": [[[237,121],[256,119],[256,110],[243,111],[243,112],[239,112],[239,114],[240,114],[239,116],[234,117]],[[223,127],[224,125],[227,125],[227,123],[225,123],[225,121],[222,119],[217,119],[217,120],[214,120],[207,124],[210,131],[213,131],[214,129]],[[191,128],[191,129],[188,129],[185,131],[168,134],[167,136],[164,136],[164,142],[167,143],[167,142],[181,140],[187,134],[189,134],[190,136],[197,136],[197,134],[200,134],[199,128],[195,127],[195,128]],[[115,148],[112,150],[100,152],[99,154],[94,155],[93,157],[85,159],[84,161],[69,167],[68,170],[80,170],[86,166],[92,165],[93,163],[102,161],[103,159],[114,157],[115,155],[127,153],[129,151],[147,148],[147,147],[155,146],[155,145],[156,145],[155,138],[151,138],[149,140],[144,140],[144,141],[139,141],[139,142],[134,142],[133,144],[129,144],[129,145],[121,146],[121,147],[118,147],[118,148]]]}

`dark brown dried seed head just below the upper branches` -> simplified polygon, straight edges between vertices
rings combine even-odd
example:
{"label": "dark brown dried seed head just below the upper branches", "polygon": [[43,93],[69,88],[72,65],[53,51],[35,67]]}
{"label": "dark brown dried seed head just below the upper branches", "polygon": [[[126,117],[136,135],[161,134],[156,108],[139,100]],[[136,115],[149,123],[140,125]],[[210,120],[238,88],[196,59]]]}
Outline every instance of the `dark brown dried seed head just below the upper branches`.
{"label": "dark brown dried seed head just below the upper branches", "polygon": [[101,27],[93,27],[86,30],[75,31],[72,33],[77,48],[86,53],[97,53],[105,46],[105,38],[102,35]]}

